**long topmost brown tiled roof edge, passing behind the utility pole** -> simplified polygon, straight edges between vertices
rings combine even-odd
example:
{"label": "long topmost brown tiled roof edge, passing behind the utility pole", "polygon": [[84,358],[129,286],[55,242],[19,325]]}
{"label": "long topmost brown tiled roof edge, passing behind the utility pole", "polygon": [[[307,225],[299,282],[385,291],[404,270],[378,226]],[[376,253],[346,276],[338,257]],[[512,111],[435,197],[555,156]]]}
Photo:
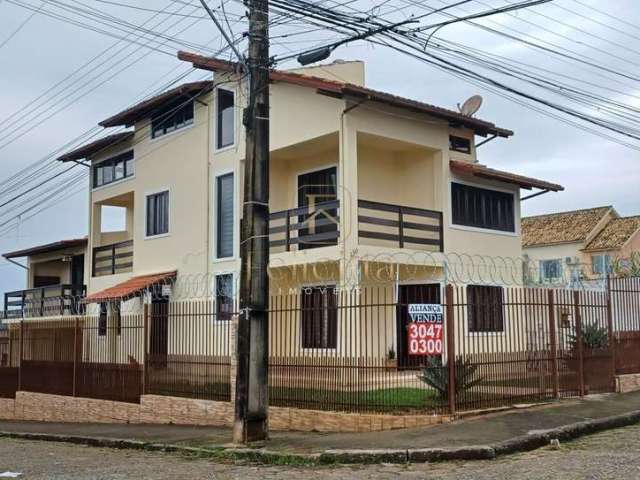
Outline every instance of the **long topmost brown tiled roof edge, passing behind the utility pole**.
{"label": "long topmost brown tiled roof edge, passing behind the utility pole", "polygon": [[[178,58],[185,62],[190,62],[194,67],[201,68],[203,70],[237,72],[240,69],[240,65],[238,63],[228,62],[217,58],[209,58],[195,53],[178,52]],[[303,75],[301,73],[287,72],[283,70],[272,70],[269,76],[271,81],[274,82],[286,82],[294,85],[315,88],[320,92],[327,92],[335,96],[351,96],[363,100],[384,103],[417,113],[425,113],[436,118],[442,118],[453,124],[470,128],[479,135],[497,135],[500,137],[510,137],[513,135],[511,130],[497,127],[495,124],[486,120],[469,117],[462,115],[460,112],[365,88],[359,85],[337,82],[335,80],[327,80],[325,78],[315,77],[312,75]]]}

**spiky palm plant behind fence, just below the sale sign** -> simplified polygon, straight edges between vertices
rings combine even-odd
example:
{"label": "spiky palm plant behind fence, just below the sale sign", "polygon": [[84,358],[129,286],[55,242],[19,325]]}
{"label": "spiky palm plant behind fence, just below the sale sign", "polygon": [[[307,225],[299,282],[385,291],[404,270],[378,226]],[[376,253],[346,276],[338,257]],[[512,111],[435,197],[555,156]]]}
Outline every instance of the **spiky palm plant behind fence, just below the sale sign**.
{"label": "spiky palm plant behind fence, just below the sale sign", "polygon": [[[466,392],[484,380],[477,374],[478,366],[468,358],[458,357],[455,360],[455,392],[456,395]],[[428,357],[427,365],[418,378],[434,388],[441,399],[449,395],[448,362],[442,362],[442,357]]]}

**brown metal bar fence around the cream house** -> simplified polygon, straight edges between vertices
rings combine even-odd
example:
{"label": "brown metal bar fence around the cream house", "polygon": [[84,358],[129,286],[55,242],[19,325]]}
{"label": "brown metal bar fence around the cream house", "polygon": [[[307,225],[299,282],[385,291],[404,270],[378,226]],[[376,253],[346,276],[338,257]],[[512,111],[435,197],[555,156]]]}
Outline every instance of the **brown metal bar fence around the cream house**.
{"label": "brown metal bar fence around the cream house", "polygon": [[[229,401],[237,310],[219,297],[14,321],[0,396]],[[313,286],[270,299],[269,402],[438,414],[608,392],[616,374],[640,373],[639,347],[639,278],[606,291]]]}

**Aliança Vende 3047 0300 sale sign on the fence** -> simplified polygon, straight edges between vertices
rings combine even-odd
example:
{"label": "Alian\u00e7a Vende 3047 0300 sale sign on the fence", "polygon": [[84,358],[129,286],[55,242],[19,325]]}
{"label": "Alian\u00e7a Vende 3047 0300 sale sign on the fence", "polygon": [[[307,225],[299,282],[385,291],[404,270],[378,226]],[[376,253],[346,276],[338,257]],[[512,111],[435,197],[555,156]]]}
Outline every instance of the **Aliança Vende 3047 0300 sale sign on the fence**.
{"label": "Alian\u00e7a Vende 3047 0300 sale sign on the fence", "polygon": [[409,355],[442,355],[442,305],[409,305]]}

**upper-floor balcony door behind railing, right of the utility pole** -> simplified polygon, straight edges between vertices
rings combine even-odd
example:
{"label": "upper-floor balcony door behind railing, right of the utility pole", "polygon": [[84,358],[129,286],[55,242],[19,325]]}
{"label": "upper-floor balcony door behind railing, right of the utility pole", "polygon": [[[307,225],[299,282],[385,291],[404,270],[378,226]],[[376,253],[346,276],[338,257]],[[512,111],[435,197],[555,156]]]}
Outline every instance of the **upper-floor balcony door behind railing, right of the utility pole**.
{"label": "upper-floor balcony door behind railing, right of the utility pole", "polygon": [[298,216],[298,222],[304,224],[304,228],[298,229],[299,250],[338,243],[338,210],[316,208],[337,198],[336,167],[298,175],[298,207],[308,207],[307,212]]}

